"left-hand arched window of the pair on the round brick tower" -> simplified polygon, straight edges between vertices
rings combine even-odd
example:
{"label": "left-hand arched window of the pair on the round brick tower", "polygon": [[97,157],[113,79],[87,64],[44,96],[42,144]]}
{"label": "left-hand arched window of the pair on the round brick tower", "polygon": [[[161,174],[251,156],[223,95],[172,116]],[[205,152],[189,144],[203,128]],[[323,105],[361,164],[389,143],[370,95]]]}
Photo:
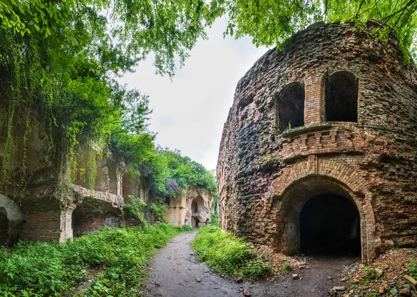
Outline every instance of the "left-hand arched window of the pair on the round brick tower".
{"label": "left-hand arched window of the pair on the round brick tower", "polygon": [[277,95],[277,128],[280,131],[304,126],[304,86],[286,85]]}

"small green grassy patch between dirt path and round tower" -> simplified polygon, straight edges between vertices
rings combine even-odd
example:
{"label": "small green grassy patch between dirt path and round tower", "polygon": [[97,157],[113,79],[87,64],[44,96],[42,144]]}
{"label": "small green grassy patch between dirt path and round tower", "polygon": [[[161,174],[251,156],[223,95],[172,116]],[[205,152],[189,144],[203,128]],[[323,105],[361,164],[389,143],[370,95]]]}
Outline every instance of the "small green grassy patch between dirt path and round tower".
{"label": "small green grassy patch between dirt path and round tower", "polygon": [[199,230],[192,244],[197,259],[230,278],[250,280],[270,275],[270,264],[248,247],[243,239],[231,232],[222,232],[218,226]]}

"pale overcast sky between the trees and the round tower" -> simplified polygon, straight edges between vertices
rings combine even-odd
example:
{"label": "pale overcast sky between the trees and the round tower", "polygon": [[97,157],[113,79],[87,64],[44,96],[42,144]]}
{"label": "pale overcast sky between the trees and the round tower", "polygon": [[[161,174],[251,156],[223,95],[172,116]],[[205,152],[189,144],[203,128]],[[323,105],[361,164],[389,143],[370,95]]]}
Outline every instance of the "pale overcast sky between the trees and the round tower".
{"label": "pale overcast sky between the trees and the round tower", "polygon": [[155,74],[152,58],[121,79],[149,95],[154,110],[149,130],[158,133],[156,142],[179,149],[207,169],[217,165],[222,129],[238,81],[267,51],[256,49],[249,37],[223,39],[225,26],[224,19],[218,19],[207,30],[208,40],[197,42],[172,81]]}

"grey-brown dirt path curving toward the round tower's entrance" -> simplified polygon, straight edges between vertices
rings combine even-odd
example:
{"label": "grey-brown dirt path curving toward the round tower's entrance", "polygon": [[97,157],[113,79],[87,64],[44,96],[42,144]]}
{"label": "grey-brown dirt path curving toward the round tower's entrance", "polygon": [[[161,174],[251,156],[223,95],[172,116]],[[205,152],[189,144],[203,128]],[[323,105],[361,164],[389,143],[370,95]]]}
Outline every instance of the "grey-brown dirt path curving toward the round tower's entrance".
{"label": "grey-brown dirt path curving toward the round tower's entrance", "polygon": [[[215,297],[243,296],[243,288],[251,296],[329,296],[329,289],[343,285],[338,280],[343,265],[359,259],[322,258],[311,260],[310,269],[300,274],[300,280],[287,277],[275,282],[236,283],[220,277],[211,269],[197,262],[190,247],[197,230],[172,239],[154,260],[145,285],[147,296],[162,297]],[[331,276],[332,280],[327,277]]]}

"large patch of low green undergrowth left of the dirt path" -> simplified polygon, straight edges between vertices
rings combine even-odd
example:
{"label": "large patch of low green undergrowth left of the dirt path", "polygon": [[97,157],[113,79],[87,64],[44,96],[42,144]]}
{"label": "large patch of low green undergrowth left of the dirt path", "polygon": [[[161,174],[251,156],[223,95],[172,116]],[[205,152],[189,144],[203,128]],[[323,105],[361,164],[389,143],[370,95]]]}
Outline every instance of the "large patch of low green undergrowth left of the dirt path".
{"label": "large patch of low green undergrowth left of the dirt path", "polygon": [[91,267],[103,273],[84,296],[138,296],[145,265],[183,228],[167,224],[114,228],[65,244],[19,241],[0,248],[0,296],[72,296]]}

